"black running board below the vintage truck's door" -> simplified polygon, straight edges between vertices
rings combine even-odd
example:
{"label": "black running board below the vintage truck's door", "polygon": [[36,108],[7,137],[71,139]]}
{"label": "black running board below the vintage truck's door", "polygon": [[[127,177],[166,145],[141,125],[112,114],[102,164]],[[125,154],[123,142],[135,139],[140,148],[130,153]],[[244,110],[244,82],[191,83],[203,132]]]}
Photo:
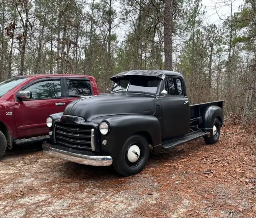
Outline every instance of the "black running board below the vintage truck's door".
{"label": "black running board below the vintage truck's door", "polygon": [[202,130],[197,130],[195,132],[190,132],[184,136],[180,136],[178,138],[174,138],[171,140],[166,140],[162,142],[162,149],[168,150],[170,148],[174,148],[178,145],[184,144],[186,142],[190,142],[194,139],[201,138],[207,136],[206,132],[202,132]]}

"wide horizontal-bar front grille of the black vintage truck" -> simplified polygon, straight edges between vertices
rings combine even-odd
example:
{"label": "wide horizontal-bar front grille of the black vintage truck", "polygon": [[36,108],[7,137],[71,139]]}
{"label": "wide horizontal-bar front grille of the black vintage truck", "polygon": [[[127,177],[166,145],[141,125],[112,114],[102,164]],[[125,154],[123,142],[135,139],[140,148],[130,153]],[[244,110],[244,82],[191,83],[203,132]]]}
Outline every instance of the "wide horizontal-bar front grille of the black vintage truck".
{"label": "wide horizontal-bar front grille of the black vintage truck", "polygon": [[92,129],[92,126],[85,125],[56,124],[54,131],[55,143],[74,149],[92,150]]}

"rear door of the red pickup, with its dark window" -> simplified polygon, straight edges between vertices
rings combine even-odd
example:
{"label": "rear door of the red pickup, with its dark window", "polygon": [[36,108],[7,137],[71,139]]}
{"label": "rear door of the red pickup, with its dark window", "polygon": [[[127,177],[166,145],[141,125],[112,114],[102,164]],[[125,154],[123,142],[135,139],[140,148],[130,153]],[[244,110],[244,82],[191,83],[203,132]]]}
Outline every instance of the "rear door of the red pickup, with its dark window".
{"label": "rear door of the red pickup, with its dark window", "polygon": [[92,84],[89,78],[85,77],[64,77],[66,85],[67,104],[81,96],[94,95]]}

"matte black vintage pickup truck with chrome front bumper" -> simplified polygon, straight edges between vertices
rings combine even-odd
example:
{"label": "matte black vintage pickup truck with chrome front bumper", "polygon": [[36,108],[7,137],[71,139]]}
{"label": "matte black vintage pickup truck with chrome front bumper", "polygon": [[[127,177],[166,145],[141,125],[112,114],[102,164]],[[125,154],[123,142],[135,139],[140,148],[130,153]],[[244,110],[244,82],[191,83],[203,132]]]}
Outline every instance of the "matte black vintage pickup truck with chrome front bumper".
{"label": "matte black vintage pickup truck with chrome front bumper", "polygon": [[223,101],[189,105],[182,74],[134,70],[110,78],[108,95],[86,96],[47,118],[49,155],[80,164],[113,165],[124,176],[140,172],[154,152],[196,138],[214,144],[223,124]]}

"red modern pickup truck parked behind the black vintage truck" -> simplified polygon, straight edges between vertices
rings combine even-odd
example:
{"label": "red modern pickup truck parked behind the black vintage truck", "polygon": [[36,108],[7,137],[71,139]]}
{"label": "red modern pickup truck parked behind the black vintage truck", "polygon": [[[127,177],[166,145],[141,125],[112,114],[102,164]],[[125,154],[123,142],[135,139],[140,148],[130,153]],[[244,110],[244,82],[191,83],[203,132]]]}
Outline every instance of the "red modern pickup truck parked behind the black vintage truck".
{"label": "red modern pickup truck parked behind the black vintage truck", "polygon": [[12,144],[48,138],[46,118],[81,96],[99,95],[92,76],[18,76],[0,83],[0,158]]}

